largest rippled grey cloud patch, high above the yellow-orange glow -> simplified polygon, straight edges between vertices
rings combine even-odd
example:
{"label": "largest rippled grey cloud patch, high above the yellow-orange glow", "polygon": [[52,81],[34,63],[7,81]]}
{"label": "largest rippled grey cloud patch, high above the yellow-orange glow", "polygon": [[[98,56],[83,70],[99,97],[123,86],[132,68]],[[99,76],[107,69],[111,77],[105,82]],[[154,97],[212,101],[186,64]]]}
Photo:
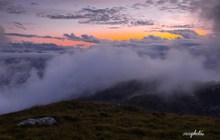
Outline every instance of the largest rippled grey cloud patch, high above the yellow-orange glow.
{"label": "largest rippled grey cloud patch, high above the yellow-orange glow", "polygon": [[83,8],[72,14],[47,14],[43,17],[50,19],[78,19],[81,24],[103,24],[103,25],[128,25],[128,26],[147,26],[153,25],[150,20],[140,20],[124,14],[124,7],[113,7],[105,9]]}

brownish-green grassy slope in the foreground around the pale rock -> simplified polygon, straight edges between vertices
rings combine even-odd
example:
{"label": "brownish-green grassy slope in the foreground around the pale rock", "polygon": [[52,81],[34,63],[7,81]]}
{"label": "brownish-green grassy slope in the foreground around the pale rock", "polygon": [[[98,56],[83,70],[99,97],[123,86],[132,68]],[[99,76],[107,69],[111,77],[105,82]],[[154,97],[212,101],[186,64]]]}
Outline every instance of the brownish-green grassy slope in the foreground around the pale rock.
{"label": "brownish-green grassy slope in the foreground around the pale rock", "polygon": [[[52,116],[53,126],[16,127],[22,120]],[[220,139],[220,119],[152,113],[133,106],[67,101],[0,116],[0,139],[22,140],[142,140],[189,139],[183,132],[204,130],[204,137]]]}

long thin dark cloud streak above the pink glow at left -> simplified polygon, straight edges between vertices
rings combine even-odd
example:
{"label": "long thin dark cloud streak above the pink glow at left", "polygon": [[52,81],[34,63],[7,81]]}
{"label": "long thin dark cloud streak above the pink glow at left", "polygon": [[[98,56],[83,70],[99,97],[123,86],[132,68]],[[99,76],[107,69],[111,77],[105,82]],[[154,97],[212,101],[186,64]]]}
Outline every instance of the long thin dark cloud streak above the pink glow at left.
{"label": "long thin dark cloud streak above the pink glow at left", "polygon": [[33,34],[19,34],[19,33],[5,33],[7,36],[17,36],[17,37],[25,37],[25,38],[47,38],[47,39],[57,39],[57,40],[64,40],[62,37],[53,37],[53,36],[39,36]]}

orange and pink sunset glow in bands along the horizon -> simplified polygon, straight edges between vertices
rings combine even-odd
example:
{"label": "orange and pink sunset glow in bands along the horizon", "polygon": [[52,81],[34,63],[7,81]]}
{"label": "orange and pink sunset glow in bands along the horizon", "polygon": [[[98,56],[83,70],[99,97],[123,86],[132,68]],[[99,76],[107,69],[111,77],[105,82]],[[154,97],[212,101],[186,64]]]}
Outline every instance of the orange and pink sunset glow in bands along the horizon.
{"label": "orange and pink sunset glow in bands along the horizon", "polygon": [[[193,29],[199,35],[207,35],[209,33],[208,30],[202,29]],[[165,38],[165,39],[175,39],[175,38],[182,38],[181,35],[172,34],[168,32],[160,32],[160,31],[143,31],[143,29],[137,30],[128,30],[128,29],[116,29],[116,30],[108,30],[102,33],[91,33],[92,36],[98,39],[105,39],[105,40],[130,40],[130,39],[138,39],[141,40],[144,37],[148,37],[150,35]],[[59,35],[56,35],[59,36]],[[80,36],[80,35],[78,35]],[[45,38],[22,38],[21,37],[13,37],[11,38],[12,42],[33,42],[33,43],[53,43],[60,46],[75,46],[79,44],[83,44],[85,46],[94,45],[94,43],[88,42],[81,42],[81,41],[72,41],[72,40],[57,40],[57,39],[45,39]]]}

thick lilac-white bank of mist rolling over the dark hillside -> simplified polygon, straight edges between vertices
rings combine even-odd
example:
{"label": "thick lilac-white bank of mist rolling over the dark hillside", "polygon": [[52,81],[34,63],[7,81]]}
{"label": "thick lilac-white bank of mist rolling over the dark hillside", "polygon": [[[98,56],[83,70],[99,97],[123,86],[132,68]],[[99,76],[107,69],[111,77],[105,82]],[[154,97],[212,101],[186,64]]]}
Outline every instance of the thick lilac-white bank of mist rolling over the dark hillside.
{"label": "thick lilac-white bank of mist rolling over the dark hillside", "polygon": [[[16,85],[12,82],[10,86],[1,88],[0,114],[90,96],[129,80],[159,80],[158,90],[164,94],[173,90],[190,91],[198,82],[220,80],[219,70],[216,67],[207,67],[208,58],[201,50],[197,50],[201,52],[198,55],[191,52],[188,46],[172,48],[164,46],[166,42],[167,40],[152,36],[139,42],[131,40],[130,45],[123,44],[125,42],[111,42],[106,46],[99,44],[89,49],[54,52],[53,58],[45,63],[43,77],[39,77],[36,70],[29,68],[29,76],[23,84]],[[14,54],[10,55],[16,58]],[[40,58],[40,55],[43,54],[35,53],[36,58]],[[29,63],[22,61],[17,64],[18,68],[30,67],[27,65]],[[0,75],[5,75],[7,67],[3,63],[0,67]],[[22,73],[18,71],[13,78],[16,79],[20,74]]]}

